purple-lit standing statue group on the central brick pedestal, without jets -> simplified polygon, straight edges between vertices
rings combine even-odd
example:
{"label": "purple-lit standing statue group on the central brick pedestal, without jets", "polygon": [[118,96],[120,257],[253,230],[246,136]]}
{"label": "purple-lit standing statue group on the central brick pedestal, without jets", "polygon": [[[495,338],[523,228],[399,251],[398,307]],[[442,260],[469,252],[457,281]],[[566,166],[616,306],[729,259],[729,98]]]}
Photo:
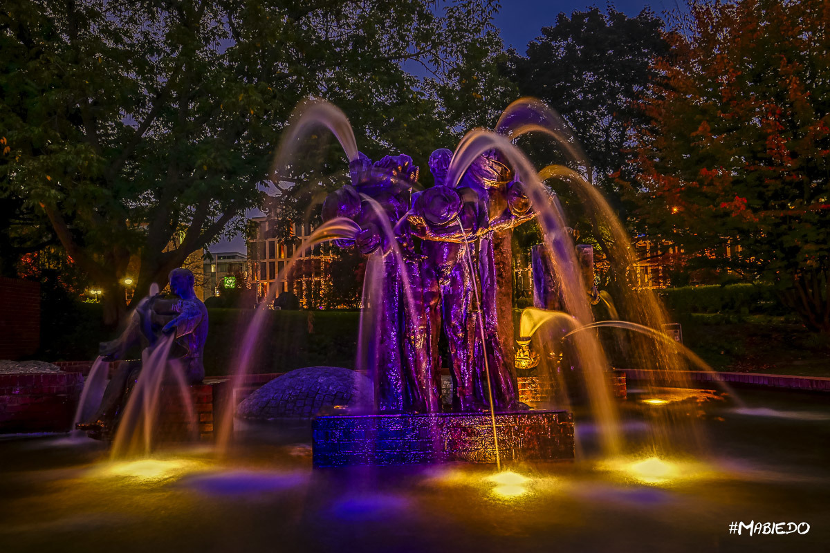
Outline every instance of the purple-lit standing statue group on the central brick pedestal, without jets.
{"label": "purple-lit standing statue group on the central brick pedestal, without jets", "polygon": [[383,290],[369,298],[378,330],[369,369],[382,412],[439,409],[441,332],[456,410],[486,409],[491,393],[498,410],[518,406],[510,232],[532,218],[530,202],[496,153],[478,158],[457,187],[446,182],[451,158],[447,149],[433,152],[435,186],[413,194],[411,158],[387,156],[373,164],[361,154],[349,167],[352,186],[323,206],[326,221],[357,222],[359,250],[382,259]]}

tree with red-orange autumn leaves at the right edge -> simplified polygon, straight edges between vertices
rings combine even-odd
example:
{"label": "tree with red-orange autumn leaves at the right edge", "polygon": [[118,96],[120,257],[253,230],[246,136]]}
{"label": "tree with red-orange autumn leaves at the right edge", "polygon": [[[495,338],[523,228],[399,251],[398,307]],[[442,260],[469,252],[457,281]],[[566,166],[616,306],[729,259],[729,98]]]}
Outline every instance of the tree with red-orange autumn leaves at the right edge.
{"label": "tree with red-orange autumn leaves at the right edge", "polygon": [[775,284],[810,330],[830,332],[830,7],[690,9],[644,104],[637,216],[653,237]]}

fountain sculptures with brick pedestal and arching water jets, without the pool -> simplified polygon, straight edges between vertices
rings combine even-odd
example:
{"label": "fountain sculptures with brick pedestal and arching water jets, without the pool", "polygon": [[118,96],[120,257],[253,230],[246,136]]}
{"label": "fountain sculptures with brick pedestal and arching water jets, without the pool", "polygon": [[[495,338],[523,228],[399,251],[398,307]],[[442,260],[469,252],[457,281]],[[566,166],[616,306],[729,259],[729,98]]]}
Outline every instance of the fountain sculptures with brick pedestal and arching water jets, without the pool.
{"label": "fountain sculptures with brick pedestal and arching water jets, without the pool", "polygon": [[[374,409],[369,411],[374,412],[365,412],[363,405],[360,413],[341,410],[339,415],[318,417],[313,429],[315,466],[464,460],[495,462],[500,468],[502,458],[574,458],[569,409],[576,389],[590,405],[603,452],[618,454],[618,409],[609,386],[614,377],[598,329],[625,327],[652,338],[648,342],[652,350],[643,355],[668,360],[666,370],[676,368],[672,363],[677,356],[666,354],[669,347],[662,333],[654,330],[663,319],[653,298],[627,303],[639,315],[636,323],[594,322],[592,306],[603,302],[616,314],[613,301],[597,289],[592,246],[574,244],[558,197],[542,181],[557,178],[576,186],[587,198],[592,220],[612,227],[617,254],[627,250],[627,240],[618,221],[610,221],[602,197],[586,189],[578,171],[548,166],[537,173],[512,142],[525,133],[547,133],[584,167],[579,147],[555,114],[533,99],[510,104],[496,132],[474,130],[455,152],[446,148],[433,152],[428,167],[434,186],[424,190],[412,158],[387,155],[373,163],[359,152],[349,121],[339,109],[310,102],[295,110],[277,149],[271,180],[280,181],[299,155],[297,143],[320,127],[334,133],[344,148],[351,183],[322,201],[324,224],[310,236],[305,249],[333,241],[369,257],[357,366],[372,383]],[[535,308],[522,313],[517,335],[511,235],[517,226],[531,221],[543,235],[542,243],[532,250]],[[295,252],[278,280],[301,255],[301,250]],[[188,287],[179,284],[173,287],[171,274],[174,292],[182,300],[190,298],[192,289],[188,293]],[[275,292],[276,288],[269,291],[247,325],[231,390],[239,389],[251,374]],[[77,426],[95,437],[115,439],[115,456],[146,454],[151,448],[163,383],[178,390],[183,410],[193,416],[187,387],[203,376],[198,351],[203,347],[207,313],[202,313],[203,305],[201,311],[193,308],[197,317],[188,320],[204,323],[183,325],[174,322],[183,317],[173,320],[178,313],[174,307],[158,295],[140,303],[125,336],[108,344],[87,381]],[[557,323],[560,332],[551,333],[551,323]],[[173,340],[165,335],[173,327],[187,327],[177,333],[178,341],[188,342],[183,345],[190,352],[183,366],[173,366],[168,359]],[[103,393],[100,408],[91,415],[90,405],[101,396],[102,360],[119,357],[142,338],[149,342],[144,370],[137,363],[122,365]],[[451,410],[442,408],[440,340],[448,344]],[[531,409],[522,402],[520,377],[554,390],[546,402],[555,409]],[[266,412],[251,405],[257,400],[249,398],[239,412]],[[222,455],[227,455],[232,442],[234,413],[226,409],[217,420],[217,451]]]}

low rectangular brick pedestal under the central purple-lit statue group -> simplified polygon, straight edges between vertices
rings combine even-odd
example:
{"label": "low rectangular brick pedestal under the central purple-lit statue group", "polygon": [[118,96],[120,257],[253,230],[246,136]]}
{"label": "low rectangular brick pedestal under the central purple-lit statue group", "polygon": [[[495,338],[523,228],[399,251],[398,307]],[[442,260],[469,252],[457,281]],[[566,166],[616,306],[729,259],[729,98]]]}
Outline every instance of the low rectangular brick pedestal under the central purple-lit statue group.
{"label": "low rectangular brick pedestal under the central purple-lit statue group", "polygon": [[[574,418],[567,411],[496,414],[502,461],[574,458]],[[318,417],[315,467],[413,463],[496,463],[489,415]]]}

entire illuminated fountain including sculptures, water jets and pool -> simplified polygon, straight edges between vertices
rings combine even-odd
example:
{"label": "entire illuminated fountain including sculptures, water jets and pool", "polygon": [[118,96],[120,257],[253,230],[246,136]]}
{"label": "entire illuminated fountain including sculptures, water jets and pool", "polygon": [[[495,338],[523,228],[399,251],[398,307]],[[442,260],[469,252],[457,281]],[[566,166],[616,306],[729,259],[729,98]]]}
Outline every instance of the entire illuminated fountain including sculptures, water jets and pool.
{"label": "entire illuminated fountain including sculptures, water jets and pool", "polygon": [[[705,390],[685,387],[691,371],[681,369],[691,364],[709,374],[706,364],[662,332],[665,317],[650,293],[611,298],[596,288],[593,250],[574,243],[558,197],[543,186],[554,178],[555,187],[583,197],[588,217],[613,236],[603,253],[624,274],[630,244],[586,186],[578,149],[544,106],[521,100],[495,133],[472,131],[454,153],[436,150],[428,161],[436,186],[426,190],[407,156],[373,163],[360,154],[338,109],[313,104],[308,113],[286,133],[274,178],[297,155],[302,133],[322,125],[344,146],[351,184],[325,199],[325,223],[306,248],[331,240],[369,256],[358,370],[305,367],[259,389],[280,384],[279,399],[291,402],[313,386],[339,386],[327,389],[331,400],[322,409],[295,402],[291,415],[315,417],[310,424],[282,419],[233,429],[222,424],[235,414],[226,409],[214,448],[163,454],[151,430],[163,425],[165,405],[189,412],[188,387],[200,386],[191,384],[198,357],[173,366],[170,352],[181,338],[193,340],[188,352],[199,352],[204,335],[191,336],[185,324],[183,334],[165,336],[180,313],[151,293],[128,332],[95,362],[78,406],[76,419],[95,423],[100,398],[120,398],[120,424],[99,433],[115,438],[110,454],[92,440],[0,440],[0,534],[12,536],[10,551],[68,542],[77,549],[129,548],[147,540],[161,551],[260,550],[273,548],[274,536],[286,547],[315,551],[542,551],[551,543],[564,551],[697,551],[701,543],[729,549],[733,538],[743,538],[727,534],[727,524],[749,517],[792,520],[803,529],[799,543],[817,551],[825,545],[830,478],[826,452],[815,444],[828,434],[826,398],[749,390],[744,403],[730,390],[714,390],[715,378],[698,386]],[[531,131],[554,133],[574,163],[535,172],[511,143]],[[531,252],[534,307],[514,328],[510,233],[525,224],[538,224],[543,240]],[[171,284],[178,300],[189,298],[187,286]],[[243,329],[227,381],[240,395],[275,293],[276,287]],[[609,335],[624,335],[635,372],[655,369],[642,371],[649,380],[632,386],[625,401],[613,391],[610,360],[622,350],[613,349]],[[154,344],[138,378],[122,361],[105,393],[105,360],[127,357],[136,340]],[[447,342],[448,375],[439,340]],[[442,377],[452,381],[448,392]],[[548,398],[528,400],[531,379],[549,382]],[[271,416],[256,401],[274,396],[259,390],[239,405],[240,418]],[[164,393],[168,403],[160,400]],[[101,422],[89,429],[110,424]],[[706,449],[701,428],[717,449]],[[546,462],[552,459],[571,462]],[[461,463],[313,469],[444,462]],[[769,546],[753,546],[778,547],[772,536],[759,540],[767,537]]]}

